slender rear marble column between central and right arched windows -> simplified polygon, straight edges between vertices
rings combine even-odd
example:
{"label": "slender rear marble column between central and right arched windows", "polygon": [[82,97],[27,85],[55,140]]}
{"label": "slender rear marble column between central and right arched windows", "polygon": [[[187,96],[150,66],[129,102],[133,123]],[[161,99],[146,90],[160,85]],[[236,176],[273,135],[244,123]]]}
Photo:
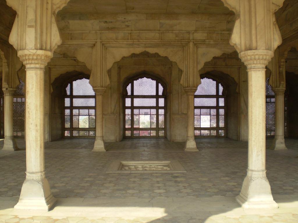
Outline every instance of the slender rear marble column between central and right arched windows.
{"label": "slender rear marble column between central and right arched windows", "polygon": [[184,151],[195,152],[198,151],[195,143],[195,87],[184,87],[187,95],[187,139]]}

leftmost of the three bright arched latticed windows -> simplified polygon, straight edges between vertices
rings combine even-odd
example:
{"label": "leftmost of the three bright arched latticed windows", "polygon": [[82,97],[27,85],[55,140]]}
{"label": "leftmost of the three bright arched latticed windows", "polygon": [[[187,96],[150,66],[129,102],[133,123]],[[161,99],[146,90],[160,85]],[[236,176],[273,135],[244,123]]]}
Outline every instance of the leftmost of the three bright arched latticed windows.
{"label": "leftmost of the three bright arched latticed windows", "polygon": [[64,137],[95,137],[95,93],[86,78],[65,89],[63,132]]}

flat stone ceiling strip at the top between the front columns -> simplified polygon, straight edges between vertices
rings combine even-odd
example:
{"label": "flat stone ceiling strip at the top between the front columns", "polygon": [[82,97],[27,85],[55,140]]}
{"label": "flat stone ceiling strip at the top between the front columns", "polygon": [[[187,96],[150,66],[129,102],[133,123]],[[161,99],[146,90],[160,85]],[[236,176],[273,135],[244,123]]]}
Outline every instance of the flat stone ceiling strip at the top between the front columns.
{"label": "flat stone ceiling strip at the top between the front columns", "polygon": [[233,14],[221,0],[70,0],[59,13]]}

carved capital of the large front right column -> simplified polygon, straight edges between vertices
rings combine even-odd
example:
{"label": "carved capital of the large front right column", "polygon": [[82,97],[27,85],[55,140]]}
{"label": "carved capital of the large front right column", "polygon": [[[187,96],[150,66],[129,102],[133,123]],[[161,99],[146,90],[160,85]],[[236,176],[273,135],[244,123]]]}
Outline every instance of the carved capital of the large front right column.
{"label": "carved capital of the large front right column", "polygon": [[247,50],[239,54],[239,58],[246,65],[247,70],[265,69],[272,57],[273,51],[271,50]]}

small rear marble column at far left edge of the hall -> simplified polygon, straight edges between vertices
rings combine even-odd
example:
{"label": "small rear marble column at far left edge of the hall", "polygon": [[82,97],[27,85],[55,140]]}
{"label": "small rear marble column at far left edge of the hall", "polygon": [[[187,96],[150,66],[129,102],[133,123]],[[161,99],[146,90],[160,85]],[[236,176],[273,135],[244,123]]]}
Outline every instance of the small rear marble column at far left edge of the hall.
{"label": "small rear marble column at far left edge of the hall", "polygon": [[2,150],[18,150],[13,138],[13,95],[15,88],[3,88],[4,93],[4,145]]}

